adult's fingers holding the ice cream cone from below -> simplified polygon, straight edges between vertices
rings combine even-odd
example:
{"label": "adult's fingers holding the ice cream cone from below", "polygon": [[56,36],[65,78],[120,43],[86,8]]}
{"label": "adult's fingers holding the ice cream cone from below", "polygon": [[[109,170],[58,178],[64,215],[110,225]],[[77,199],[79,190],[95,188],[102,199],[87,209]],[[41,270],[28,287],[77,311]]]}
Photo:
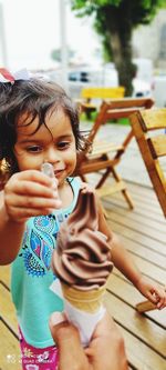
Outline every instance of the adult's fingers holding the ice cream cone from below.
{"label": "adult's fingers holding the ice cream cone from below", "polygon": [[50,330],[59,347],[59,370],[127,370],[124,340],[106,313],[97,323],[89,348],[83,349],[77,329],[64,314],[54,312]]}

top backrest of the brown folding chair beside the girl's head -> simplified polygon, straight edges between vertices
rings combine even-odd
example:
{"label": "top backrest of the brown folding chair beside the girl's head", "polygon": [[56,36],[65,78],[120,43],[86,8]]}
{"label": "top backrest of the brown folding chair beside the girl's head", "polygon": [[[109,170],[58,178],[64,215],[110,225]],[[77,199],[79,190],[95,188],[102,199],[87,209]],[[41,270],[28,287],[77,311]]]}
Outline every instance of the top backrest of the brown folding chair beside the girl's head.
{"label": "top backrest of the brown folding chair beside the girl's head", "polygon": [[154,100],[151,98],[123,98],[103,101],[90,132],[89,141],[92,142],[94,140],[101,124],[106,123],[108,120],[128,118],[133,112],[151,108],[153,104]]}

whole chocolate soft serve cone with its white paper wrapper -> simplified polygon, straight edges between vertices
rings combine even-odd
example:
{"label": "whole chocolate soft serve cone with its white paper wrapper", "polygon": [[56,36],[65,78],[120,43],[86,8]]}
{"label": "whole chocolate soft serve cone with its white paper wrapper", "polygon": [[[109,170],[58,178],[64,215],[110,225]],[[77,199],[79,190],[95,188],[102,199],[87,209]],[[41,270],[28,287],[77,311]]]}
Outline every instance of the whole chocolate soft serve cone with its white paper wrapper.
{"label": "whole chocolate soft serve cone with its white paper wrapper", "polygon": [[61,282],[68,319],[79,328],[85,347],[105,313],[103,294],[113,269],[93,192],[80,191],[73,213],[61,224],[52,269]]}

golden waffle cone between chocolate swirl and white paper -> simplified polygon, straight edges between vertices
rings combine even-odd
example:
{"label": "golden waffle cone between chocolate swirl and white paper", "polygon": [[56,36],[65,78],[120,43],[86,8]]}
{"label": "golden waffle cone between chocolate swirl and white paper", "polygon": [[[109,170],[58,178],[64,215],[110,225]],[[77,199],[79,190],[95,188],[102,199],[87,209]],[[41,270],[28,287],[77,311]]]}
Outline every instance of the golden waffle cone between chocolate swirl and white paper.
{"label": "golden waffle cone between chocolate swirl and white paper", "polygon": [[76,309],[89,313],[96,312],[103,302],[105,286],[95,290],[79,290],[65,283],[61,283],[63,297]]}

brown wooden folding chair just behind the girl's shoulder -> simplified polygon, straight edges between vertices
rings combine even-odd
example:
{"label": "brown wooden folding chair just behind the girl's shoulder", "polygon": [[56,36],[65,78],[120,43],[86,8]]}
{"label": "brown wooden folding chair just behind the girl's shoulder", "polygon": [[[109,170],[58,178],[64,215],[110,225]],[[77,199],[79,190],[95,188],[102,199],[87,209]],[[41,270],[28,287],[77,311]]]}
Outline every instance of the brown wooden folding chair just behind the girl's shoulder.
{"label": "brown wooden folding chair just behind the girl's shoulder", "polygon": [[[131,142],[133,131],[131,129],[124,142],[118,144],[111,142],[111,140],[106,142],[102,140],[96,141],[95,138],[101,126],[106,123],[108,120],[128,118],[133,112],[151,108],[153,104],[154,101],[149,98],[124,98],[110,102],[104,101],[87,137],[87,140],[92,146],[92,150],[90,152],[90,147],[86,146],[84,151],[77,158],[75,174],[79,174],[83,181],[86,181],[85,174],[100,171],[101,178],[95,184],[98,196],[105,197],[116,191],[121,191],[131,209],[134,208],[133,201],[128,194],[125,182],[121,179],[120,174],[115,170],[115,167],[122,160],[122,156]],[[110,174],[112,174],[115,180],[114,184],[103,187]]]}

